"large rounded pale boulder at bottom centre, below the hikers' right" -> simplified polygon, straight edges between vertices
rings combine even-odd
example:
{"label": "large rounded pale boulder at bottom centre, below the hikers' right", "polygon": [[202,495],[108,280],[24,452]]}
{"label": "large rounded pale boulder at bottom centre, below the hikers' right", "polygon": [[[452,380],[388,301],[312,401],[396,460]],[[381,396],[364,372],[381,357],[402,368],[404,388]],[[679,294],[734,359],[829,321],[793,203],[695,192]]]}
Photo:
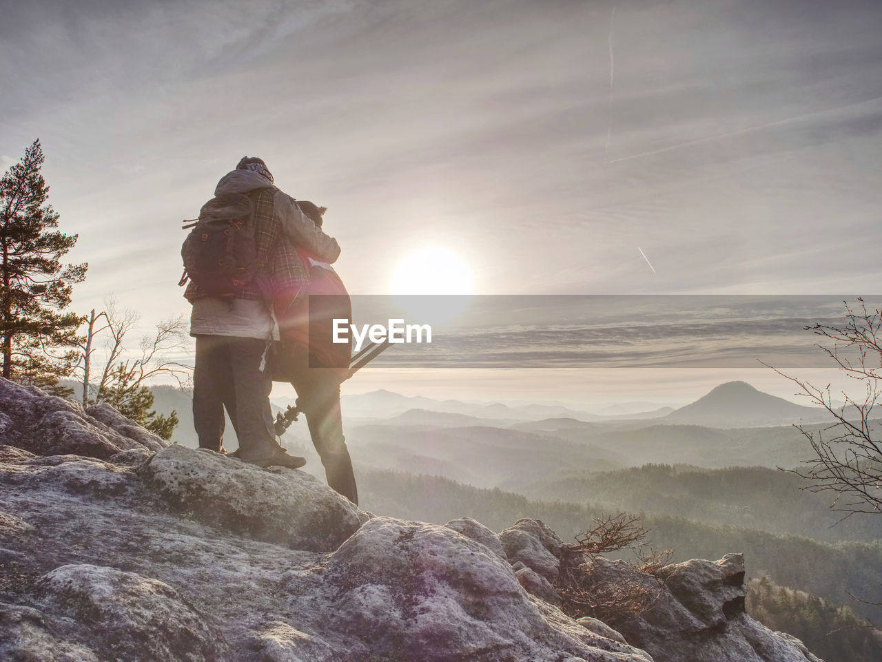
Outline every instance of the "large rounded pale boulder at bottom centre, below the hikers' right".
{"label": "large rounded pale boulder at bottom centre, below the hikers' right", "polygon": [[[377,517],[331,554],[327,617],[378,659],[648,660],[530,599],[508,563],[445,526]],[[339,624],[339,625],[338,625]]]}

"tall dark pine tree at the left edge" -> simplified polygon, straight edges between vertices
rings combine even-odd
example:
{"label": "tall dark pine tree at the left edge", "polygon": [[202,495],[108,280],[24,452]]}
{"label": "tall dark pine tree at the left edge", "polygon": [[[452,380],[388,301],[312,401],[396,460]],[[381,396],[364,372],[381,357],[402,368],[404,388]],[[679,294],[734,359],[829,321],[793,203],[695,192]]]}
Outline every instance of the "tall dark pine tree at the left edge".
{"label": "tall dark pine tree at the left edge", "polygon": [[61,264],[77,235],[53,229],[58,214],[46,203],[42,164],[38,139],[0,179],[0,352],[6,379],[51,387],[76,361],[82,318],[64,309],[88,265]]}

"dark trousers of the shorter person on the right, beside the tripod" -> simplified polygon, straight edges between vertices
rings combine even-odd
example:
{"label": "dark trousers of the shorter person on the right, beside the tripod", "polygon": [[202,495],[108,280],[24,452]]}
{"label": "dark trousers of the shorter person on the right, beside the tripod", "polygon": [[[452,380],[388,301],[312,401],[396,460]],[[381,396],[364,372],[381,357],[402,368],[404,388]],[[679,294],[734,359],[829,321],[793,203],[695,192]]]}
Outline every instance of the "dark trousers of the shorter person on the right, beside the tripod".
{"label": "dark trousers of the shorter person on the right, beside the tripod", "polygon": [[[331,368],[310,368],[309,354],[298,347],[286,375],[297,391],[297,409],[306,416],[312,445],[325,466],[328,485],[338,494],[358,504],[358,489],[352,459],[343,436],[340,412],[340,376]],[[315,359],[313,359],[315,365]]]}

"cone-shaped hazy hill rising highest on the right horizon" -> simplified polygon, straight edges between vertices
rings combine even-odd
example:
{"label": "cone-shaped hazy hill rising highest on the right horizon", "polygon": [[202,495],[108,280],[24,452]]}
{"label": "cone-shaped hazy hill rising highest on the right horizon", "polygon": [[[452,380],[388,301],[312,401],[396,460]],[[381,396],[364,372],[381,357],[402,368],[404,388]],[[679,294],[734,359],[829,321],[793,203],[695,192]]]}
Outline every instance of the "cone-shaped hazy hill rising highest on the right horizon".
{"label": "cone-shaped hazy hill rising highest on the right horizon", "polygon": [[819,407],[796,405],[784,398],[757,391],[746,382],[728,382],[720,384],[691,405],[669,413],[662,422],[711,428],[751,428],[828,419],[829,414]]}

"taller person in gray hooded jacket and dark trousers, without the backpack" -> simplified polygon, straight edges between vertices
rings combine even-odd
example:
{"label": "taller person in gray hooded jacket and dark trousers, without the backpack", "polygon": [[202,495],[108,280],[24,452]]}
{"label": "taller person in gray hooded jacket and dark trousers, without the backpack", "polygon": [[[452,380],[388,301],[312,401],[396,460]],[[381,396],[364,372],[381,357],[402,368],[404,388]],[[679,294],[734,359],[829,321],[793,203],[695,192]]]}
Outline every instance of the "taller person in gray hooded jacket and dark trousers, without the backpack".
{"label": "taller person in gray hooded jacket and dark trousers, without the backpack", "polygon": [[[271,300],[278,292],[296,293],[308,275],[295,246],[333,262],[336,240],[305,216],[273,185],[263,160],[244,157],[221,177],[215,196],[241,193],[254,205],[258,278],[237,286],[232,298],[207,295],[193,282],[184,293],[191,301],[191,336],[196,338],[193,373],[193,423],[199,447],[223,450],[224,408],[239,439],[239,459],[258,466],[303,466],[276,441],[269,394],[272,376],[267,353],[278,339]],[[266,291],[267,288],[269,291]]]}

